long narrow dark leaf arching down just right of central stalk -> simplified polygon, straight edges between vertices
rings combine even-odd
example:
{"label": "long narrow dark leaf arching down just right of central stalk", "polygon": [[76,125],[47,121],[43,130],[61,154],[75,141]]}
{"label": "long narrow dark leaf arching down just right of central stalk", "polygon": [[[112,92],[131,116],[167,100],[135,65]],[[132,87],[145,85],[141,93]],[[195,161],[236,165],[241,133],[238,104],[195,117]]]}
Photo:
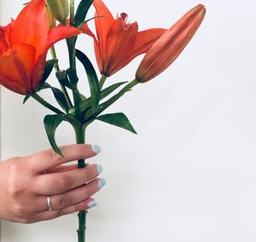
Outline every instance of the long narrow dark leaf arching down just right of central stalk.
{"label": "long narrow dark leaf arching down just right of central stalk", "polygon": [[76,49],[76,56],[83,64],[85,72],[87,74],[87,78],[90,84],[91,108],[92,112],[96,112],[100,101],[100,85],[96,75],[96,71],[90,63],[88,57],[84,55],[84,53],[81,52],[79,49]]}

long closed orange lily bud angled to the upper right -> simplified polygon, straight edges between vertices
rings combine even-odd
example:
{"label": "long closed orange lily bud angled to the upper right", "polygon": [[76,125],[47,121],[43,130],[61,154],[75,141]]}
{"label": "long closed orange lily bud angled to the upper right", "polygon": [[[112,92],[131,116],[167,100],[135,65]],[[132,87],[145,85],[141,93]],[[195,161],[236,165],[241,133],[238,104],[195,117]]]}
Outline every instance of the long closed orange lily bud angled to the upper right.
{"label": "long closed orange lily bud angled to the upper right", "polygon": [[137,69],[136,78],[140,83],[156,77],[176,60],[201,25],[205,14],[203,5],[196,6],[154,43]]}

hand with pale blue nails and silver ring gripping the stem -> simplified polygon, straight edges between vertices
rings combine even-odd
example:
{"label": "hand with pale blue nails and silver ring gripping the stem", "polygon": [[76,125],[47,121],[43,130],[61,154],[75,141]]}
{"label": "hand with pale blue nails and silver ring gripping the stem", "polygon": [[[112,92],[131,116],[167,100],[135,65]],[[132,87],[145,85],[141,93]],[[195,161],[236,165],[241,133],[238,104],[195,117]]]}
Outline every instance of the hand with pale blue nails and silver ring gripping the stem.
{"label": "hand with pale blue nails and silver ring gripping the stem", "polygon": [[99,147],[70,145],[61,147],[61,152],[65,158],[46,150],[0,164],[0,218],[39,222],[96,205],[90,196],[105,185],[105,179],[96,178],[102,166],[88,164],[78,169],[77,164],[64,164],[93,157]]}

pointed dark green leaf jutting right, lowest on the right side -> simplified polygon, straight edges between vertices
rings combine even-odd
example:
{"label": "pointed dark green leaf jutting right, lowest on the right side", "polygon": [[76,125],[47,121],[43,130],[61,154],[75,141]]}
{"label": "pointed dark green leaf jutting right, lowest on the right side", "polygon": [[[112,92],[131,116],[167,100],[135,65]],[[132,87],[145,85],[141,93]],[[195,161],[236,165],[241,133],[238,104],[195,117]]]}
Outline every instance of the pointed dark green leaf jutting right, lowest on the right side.
{"label": "pointed dark green leaf jutting right, lowest on the right side", "polygon": [[102,122],[118,126],[119,128],[129,130],[133,134],[137,134],[136,130],[133,129],[129,119],[122,112],[104,114],[96,118]]}

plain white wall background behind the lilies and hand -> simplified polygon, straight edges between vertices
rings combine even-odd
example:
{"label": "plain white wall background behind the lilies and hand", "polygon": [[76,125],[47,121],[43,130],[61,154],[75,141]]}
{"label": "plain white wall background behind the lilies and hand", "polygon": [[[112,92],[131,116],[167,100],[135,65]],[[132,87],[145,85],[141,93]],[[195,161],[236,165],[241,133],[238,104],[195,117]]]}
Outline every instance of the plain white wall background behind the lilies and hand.
{"label": "plain white wall background behind the lilies and hand", "polygon": [[[1,2],[4,25],[21,2]],[[105,3],[146,29],[171,26],[198,2]],[[87,142],[102,147],[90,161],[103,164],[108,182],[88,216],[89,242],[256,240],[256,2],[203,3],[206,20],[175,64],[110,109],[125,112],[138,135],[102,123],[88,130]],[[79,49],[93,56],[90,39],[81,39]],[[138,62],[109,84],[133,78]],[[35,101],[21,102],[2,89],[2,160],[49,147],[47,112]],[[59,144],[74,141],[68,125],[57,136]],[[2,222],[1,242],[76,241],[76,228],[76,215],[33,225]]]}

